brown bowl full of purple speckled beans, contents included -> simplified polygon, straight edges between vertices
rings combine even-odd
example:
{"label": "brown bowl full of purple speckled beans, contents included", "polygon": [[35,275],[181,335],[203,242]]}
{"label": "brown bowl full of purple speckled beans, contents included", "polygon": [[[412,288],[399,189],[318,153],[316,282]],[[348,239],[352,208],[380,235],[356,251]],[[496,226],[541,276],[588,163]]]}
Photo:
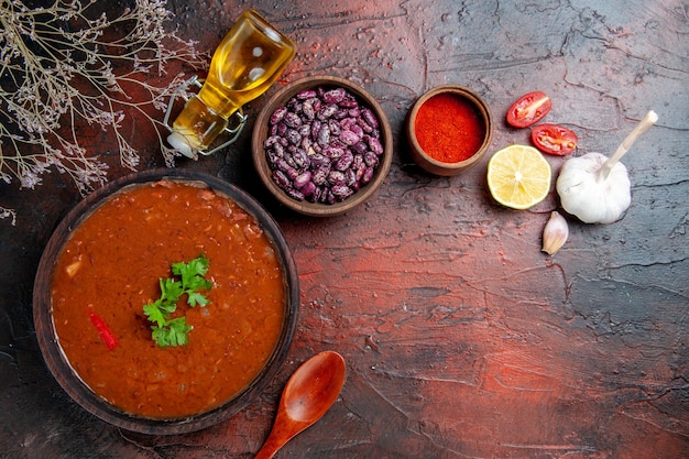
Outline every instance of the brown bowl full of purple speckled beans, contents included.
{"label": "brown bowl full of purple speckled beans, contents included", "polygon": [[253,163],[284,206],[326,217],[365,201],[392,164],[385,112],[363,88],[338,77],[296,80],[259,113]]}

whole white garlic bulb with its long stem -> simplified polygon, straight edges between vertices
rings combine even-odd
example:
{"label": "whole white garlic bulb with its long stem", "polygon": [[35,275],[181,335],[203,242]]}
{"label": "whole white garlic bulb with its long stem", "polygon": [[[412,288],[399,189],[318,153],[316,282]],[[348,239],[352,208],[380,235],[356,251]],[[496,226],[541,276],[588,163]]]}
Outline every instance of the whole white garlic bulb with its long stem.
{"label": "whole white garlic bulb with its long stem", "polygon": [[657,120],[654,111],[646,113],[610,159],[588,153],[567,160],[556,183],[562,208],[584,223],[612,223],[622,218],[632,194],[626,167],[620,159]]}

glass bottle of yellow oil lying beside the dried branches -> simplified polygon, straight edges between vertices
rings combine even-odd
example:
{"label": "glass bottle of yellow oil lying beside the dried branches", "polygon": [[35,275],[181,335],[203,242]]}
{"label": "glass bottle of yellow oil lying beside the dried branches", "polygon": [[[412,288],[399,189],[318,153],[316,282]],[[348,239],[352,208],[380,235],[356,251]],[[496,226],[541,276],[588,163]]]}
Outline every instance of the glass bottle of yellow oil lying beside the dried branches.
{"label": "glass bottle of yellow oil lying beside the dried branches", "polygon": [[175,119],[169,143],[188,156],[207,149],[228,118],[265,92],[295,53],[296,45],[255,11],[242,13],[216,50],[200,91]]}

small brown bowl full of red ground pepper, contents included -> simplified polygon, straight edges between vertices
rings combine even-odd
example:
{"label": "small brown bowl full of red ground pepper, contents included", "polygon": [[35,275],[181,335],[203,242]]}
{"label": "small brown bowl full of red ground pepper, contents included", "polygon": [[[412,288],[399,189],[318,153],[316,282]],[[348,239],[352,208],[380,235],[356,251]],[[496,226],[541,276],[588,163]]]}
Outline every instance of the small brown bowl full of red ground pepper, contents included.
{"label": "small brown bowl full of red ground pepper, contents included", "polygon": [[459,85],[438,86],[420,96],[406,119],[412,159],[425,171],[453,176],[477,165],[492,139],[485,101]]}

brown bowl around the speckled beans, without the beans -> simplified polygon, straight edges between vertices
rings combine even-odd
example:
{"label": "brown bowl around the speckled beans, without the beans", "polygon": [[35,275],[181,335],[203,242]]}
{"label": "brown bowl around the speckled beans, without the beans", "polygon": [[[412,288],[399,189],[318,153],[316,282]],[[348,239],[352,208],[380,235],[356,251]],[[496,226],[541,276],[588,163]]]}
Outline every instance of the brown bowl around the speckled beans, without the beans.
{"label": "brown bowl around the speckled beans, without the beans", "polygon": [[[284,189],[282,189],[273,179],[273,168],[269,164],[266,149],[264,147],[265,140],[271,135],[271,117],[276,109],[284,107],[289,99],[296,95],[309,90],[322,88],[324,90],[330,90],[333,88],[344,88],[347,91],[356,96],[361,107],[368,107],[373,114],[378,118],[380,133],[380,143],[382,145],[382,154],[379,156],[379,164],[374,170],[373,176],[365,185],[359,187],[351,196],[343,200],[335,201],[332,204],[326,203],[311,203],[308,199],[295,199],[289,196]],[[261,181],[271,194],[285,207],[297,211],[303,215],[311,217],[328,217],[336,216],[354,207],[361,205],[369,199],[371,195],[382,185],[390,165],[392,164],[393,141],[390,123],[385,112],[376,102],[376,100],[358,85],[338,77],[332,76],[318,76],[308,77],[296,80],[284,88],[280,89],[271,99],[266,102],[265,107],[259,113],[256,119],[253,135],[251,140],[251,147],[253,154],[253,163],[261,177]]]}

